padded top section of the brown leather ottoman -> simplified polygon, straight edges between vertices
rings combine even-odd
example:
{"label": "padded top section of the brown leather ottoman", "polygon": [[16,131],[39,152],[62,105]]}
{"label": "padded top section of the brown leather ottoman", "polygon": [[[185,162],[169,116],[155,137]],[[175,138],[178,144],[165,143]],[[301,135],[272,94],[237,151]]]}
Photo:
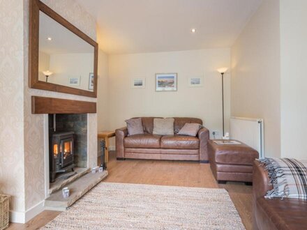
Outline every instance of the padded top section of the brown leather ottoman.
{"label": "padded top section of the brown leather ottoman", "polygon": [[219,164],[245,164],[253,165],[253,161],[259,158],[255,149],[246,144],[218,145],[214,141],[208,141],[210,159]]}

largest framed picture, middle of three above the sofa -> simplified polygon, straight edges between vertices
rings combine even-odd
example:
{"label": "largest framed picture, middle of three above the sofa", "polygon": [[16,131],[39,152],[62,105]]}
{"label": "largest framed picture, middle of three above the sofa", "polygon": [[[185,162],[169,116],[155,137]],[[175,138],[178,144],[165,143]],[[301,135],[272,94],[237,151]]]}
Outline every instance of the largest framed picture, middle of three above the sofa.
{"label": "largest framed picture, middle of three above the sofa", "polygon": [[157,73],[156,91],[177,91],[177,73]]}

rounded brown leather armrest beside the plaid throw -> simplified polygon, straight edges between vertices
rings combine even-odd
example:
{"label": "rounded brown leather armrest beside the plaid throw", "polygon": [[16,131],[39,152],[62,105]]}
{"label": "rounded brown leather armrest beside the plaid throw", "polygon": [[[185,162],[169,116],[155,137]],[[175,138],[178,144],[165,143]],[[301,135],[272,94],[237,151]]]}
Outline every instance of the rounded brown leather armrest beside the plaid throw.
{"label": "rounded brown leather armrest beside the plaid throw", "polygon": [[253,165],[253,199],[264,197],[267,191],[272,189],[273,186],[269,183],[267,171],[259,161],[255,160]]}

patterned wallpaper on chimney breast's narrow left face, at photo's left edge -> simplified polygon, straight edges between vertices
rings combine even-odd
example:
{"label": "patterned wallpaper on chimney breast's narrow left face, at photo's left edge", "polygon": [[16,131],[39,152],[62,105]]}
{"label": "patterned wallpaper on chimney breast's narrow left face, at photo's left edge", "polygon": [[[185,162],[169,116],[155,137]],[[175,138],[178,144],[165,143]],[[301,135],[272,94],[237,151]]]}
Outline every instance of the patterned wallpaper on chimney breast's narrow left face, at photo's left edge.
{"label": "patterned wallpaper on chimney breast's narrow left face, at photo's left edge", "polygon": [[0,193],[24,210],[22,4],[0,0]]}

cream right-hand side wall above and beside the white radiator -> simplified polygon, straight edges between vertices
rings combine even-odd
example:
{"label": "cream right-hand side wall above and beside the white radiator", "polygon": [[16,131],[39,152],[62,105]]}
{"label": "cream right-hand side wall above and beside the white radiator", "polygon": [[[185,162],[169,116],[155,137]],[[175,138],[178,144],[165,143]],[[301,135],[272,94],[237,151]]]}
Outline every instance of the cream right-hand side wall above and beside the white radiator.
{"label": "cream right-hand side wall above and beside the white radiator", "polygon": [[279,25],[279,1],[263,1],[231,49],[231,114],[264,118],[267,157],[280,157]]}

